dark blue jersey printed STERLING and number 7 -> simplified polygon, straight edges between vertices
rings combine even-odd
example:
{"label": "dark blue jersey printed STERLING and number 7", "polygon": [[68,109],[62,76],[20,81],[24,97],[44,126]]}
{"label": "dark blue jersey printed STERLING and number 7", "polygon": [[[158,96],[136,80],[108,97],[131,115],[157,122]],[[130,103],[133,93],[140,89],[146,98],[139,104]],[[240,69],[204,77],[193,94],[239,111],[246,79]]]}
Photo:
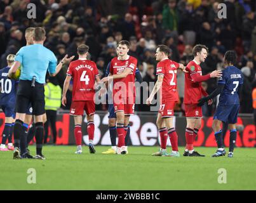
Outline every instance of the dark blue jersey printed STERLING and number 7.
{"label": "dark blue jersey printed STERLING and number 7", "polygon": [[239,105],[238,86],[243,84],[243,73],[234,66],[222,71],[219,84],[225,84],[219,98],[219,105]]}

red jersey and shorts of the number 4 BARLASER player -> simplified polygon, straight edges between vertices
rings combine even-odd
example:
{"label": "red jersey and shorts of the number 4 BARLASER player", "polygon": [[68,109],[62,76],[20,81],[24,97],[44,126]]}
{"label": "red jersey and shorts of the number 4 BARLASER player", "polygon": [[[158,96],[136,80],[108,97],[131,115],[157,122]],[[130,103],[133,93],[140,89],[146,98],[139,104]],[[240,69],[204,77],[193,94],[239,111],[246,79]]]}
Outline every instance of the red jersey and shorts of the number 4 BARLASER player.
{"label": "red jersey and shorts of the number 4 BARLASER player", "polygon": [[83,115],[83,110],[87,115],[94,114],[95,77],[99,75],[95,62],[82,59],[71,62],[67,75],[73,79],[71,114]]}

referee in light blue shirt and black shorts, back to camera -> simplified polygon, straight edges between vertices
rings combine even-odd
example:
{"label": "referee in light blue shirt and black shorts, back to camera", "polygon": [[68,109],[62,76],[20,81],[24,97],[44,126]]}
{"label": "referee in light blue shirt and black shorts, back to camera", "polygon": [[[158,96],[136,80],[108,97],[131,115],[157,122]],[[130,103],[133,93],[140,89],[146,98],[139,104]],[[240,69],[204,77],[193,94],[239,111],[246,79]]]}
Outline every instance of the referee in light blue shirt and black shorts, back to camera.
{"label": "referee in light blue shirt and black shorts, back to camera", "polygon": [[44,83],[48,70],[51,76],[58,74],[62,63],[57,66],[57,58],[54,53],[43,46],[46,39],[45,30],[36,27],[34,30],[34,44],[22,47],[16,57],[15,63],[9,70],[8,76],[15,74],[22,65],[20,82],[17,89],[16,120],[13,128],[14,147],[13,159],[20,159],[20,134],[25,119],[25,112],[31,102],[33,114],[36,119],[36,159],[45,159],[43,148],[43,114],[44,110]]}

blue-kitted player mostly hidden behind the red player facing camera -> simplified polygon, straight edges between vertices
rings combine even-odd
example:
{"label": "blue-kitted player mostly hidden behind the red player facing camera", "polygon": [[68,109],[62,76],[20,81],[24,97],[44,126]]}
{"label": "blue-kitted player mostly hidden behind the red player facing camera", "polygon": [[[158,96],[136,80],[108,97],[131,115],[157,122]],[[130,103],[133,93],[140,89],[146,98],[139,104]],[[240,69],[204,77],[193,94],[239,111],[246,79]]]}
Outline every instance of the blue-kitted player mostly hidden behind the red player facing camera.
{"label": "blue-kitted player mostly hidden behind the red player facing camera", "polygon": [[[105,71],[104,77],[107,77],[109,75],[109,67],[110,67],[111,62],[107,65],[107,69]],[[142,76],[140,75],[140,71],[138,68],[136,68],[135,72],[135,78],[136,81],[142,82]],[[108,88],[109,91],[112,91],[112,87]],[[109,148],[107,151],[102,152],[102,154],[116,154],[116,114],[114,112],[114,105],[111,96],[108,96],[108,110],[109,110],[109,134],[111,137],[111,148]],[[124,126],[126,133],[125,137],[125,145],[126,145],[126,152],[127,150],[127,145],[129,143],[130,139],[130,126]]]}

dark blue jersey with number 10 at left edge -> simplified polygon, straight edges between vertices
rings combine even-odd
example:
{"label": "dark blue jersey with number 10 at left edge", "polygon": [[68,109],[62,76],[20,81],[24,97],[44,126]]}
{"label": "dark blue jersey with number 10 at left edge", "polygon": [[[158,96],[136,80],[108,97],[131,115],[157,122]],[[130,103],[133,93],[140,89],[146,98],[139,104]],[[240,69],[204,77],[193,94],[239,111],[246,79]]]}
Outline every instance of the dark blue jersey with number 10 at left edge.
{"label": "dark blue jersey with number 10 at left edge", "polygon": [[5,67],[0,70],[0,105],[16,102],[17,81],[8,79],[10,69],[10,67]]}

